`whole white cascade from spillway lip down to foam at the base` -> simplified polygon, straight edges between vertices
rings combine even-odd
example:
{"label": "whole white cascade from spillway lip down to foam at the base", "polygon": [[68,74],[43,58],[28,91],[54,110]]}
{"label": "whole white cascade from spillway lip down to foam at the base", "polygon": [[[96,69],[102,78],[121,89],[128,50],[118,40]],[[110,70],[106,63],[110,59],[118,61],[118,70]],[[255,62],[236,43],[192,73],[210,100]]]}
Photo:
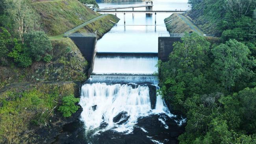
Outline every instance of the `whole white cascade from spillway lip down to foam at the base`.
{"label": "whole white cascade from spillway lip down to foam at the base", "polygon": [[[157,60],[156,54],[148,53],[96,55],[93,75],[81,89],[81,120],[87,132],[113,130],[128,134],[138,118],[152,114],[174,116],[156,94],[158,77],[153,74]],[[168,129],[164,119],[159,121]]]}

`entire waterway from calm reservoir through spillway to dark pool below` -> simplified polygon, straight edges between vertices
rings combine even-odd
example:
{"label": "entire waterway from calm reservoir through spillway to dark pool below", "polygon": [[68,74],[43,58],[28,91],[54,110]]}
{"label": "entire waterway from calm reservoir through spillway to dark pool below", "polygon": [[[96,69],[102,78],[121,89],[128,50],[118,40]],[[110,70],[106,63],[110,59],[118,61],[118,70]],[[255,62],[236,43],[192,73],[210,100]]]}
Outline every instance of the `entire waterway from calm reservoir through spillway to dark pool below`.
{"label": "entire waterway from calm reservoir through spillway to dark pool below", "polygon": [[[144,5],[100,3],[100,8]],[[153,10],[187,10],[187,0],[153,0]],[[131,9],[128,9],[131,10]],[[145,7],[135,8],[145,10]],[[80,120],[53,143],[177,144],[186,119],[172,114],[158,94],[158,36],[171,13],[117,14],[120,21],[96,44],[94,70],[81,87]],[[158,25],[159,24],[159,25]],[[144,25],[144,26],[138,26]]]}

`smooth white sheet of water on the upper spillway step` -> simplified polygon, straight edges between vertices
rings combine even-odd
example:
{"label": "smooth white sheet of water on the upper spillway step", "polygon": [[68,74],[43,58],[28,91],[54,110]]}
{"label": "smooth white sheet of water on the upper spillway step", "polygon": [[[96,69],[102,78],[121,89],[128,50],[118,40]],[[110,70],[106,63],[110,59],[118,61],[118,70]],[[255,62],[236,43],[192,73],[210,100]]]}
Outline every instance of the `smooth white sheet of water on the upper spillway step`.
{"label": "smooth white sheet of water on the upper spillway step", "polygon": [[97,57],[93,74],[143,74],[157,72],[158,57]]}

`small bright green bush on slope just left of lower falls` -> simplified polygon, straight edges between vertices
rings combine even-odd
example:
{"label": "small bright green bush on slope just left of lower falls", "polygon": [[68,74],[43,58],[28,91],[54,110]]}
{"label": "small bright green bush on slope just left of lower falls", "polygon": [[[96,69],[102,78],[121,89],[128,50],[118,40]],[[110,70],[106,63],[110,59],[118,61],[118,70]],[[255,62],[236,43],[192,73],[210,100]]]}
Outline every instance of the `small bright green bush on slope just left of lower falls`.
{"label": "small bright green bush on slope just left of lower falls", "polygon": [[62,98],[62,105],[59,107],[59,111],[63,113],[64,117],[71,116],[72,113],[76,113],[78,106],[75,103],[79,102],[79,98],[75,98],[73,94]]}

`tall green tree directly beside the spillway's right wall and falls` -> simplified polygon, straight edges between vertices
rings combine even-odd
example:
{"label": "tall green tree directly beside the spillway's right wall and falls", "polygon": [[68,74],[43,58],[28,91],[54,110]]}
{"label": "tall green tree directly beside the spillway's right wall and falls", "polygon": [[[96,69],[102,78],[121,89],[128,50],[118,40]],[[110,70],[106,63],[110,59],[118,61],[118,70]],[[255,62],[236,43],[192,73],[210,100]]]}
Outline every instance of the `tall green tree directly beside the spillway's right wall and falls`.
{"label": "tall green tree directly beside the spillway's right wall and falls", "polygon": [[186,33],[182,42],[174,43],[169,61],[160,63],[160,91],[174,110],[182,111],[186,98],[205,90],[203,69],[208,67],[209,47],[204,37]]}

